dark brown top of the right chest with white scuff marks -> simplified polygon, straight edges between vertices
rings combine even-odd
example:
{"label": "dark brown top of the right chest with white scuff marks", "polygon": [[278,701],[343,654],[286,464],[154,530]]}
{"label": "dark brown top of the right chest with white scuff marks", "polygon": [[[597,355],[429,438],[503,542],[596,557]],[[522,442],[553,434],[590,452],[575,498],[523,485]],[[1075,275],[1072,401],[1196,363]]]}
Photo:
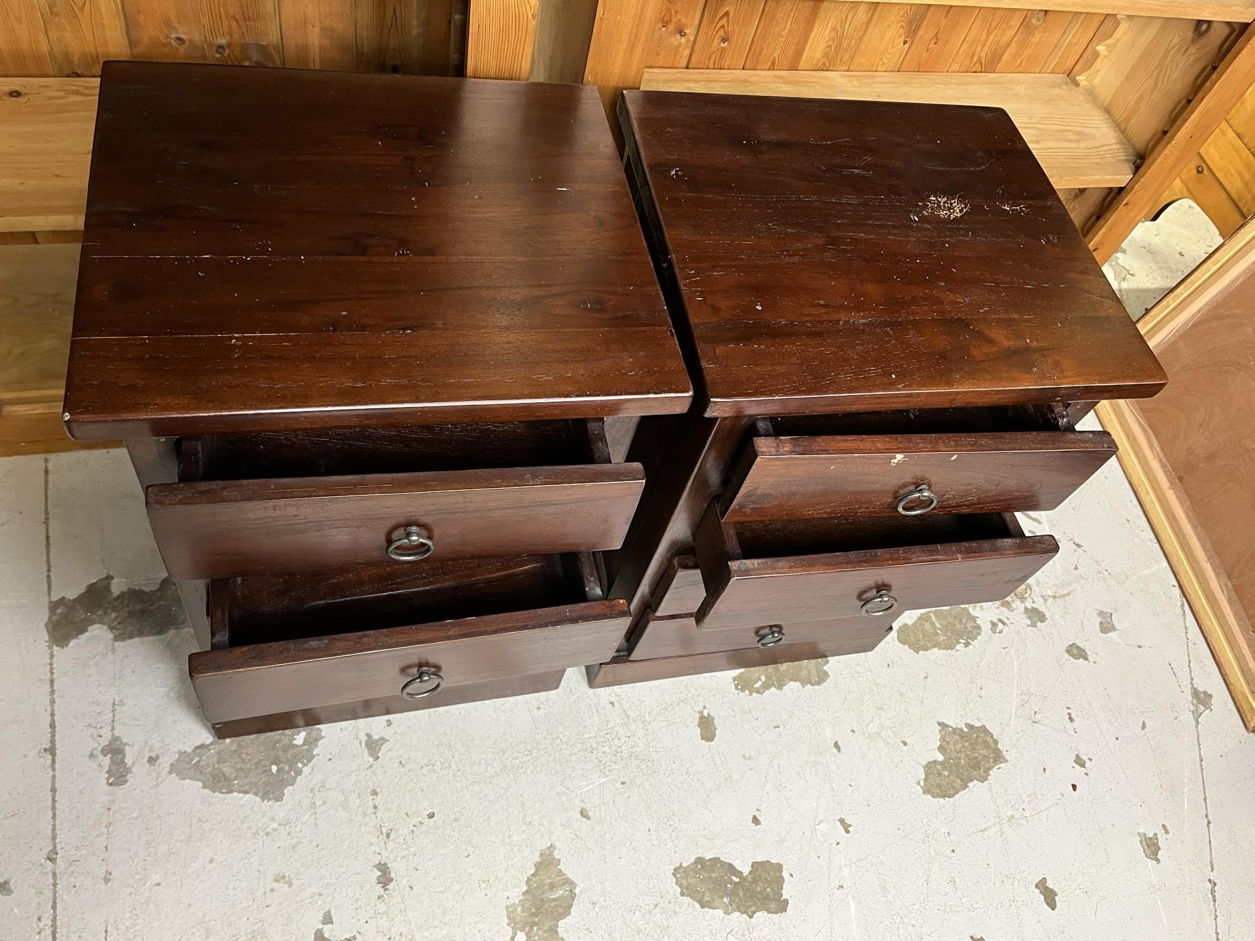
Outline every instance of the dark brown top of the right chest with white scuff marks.
{"label": "dark brown top of the right chest with white scuff marks", "polygon": [[1005,112],[626,92],[707,414],[1153,395]]}

